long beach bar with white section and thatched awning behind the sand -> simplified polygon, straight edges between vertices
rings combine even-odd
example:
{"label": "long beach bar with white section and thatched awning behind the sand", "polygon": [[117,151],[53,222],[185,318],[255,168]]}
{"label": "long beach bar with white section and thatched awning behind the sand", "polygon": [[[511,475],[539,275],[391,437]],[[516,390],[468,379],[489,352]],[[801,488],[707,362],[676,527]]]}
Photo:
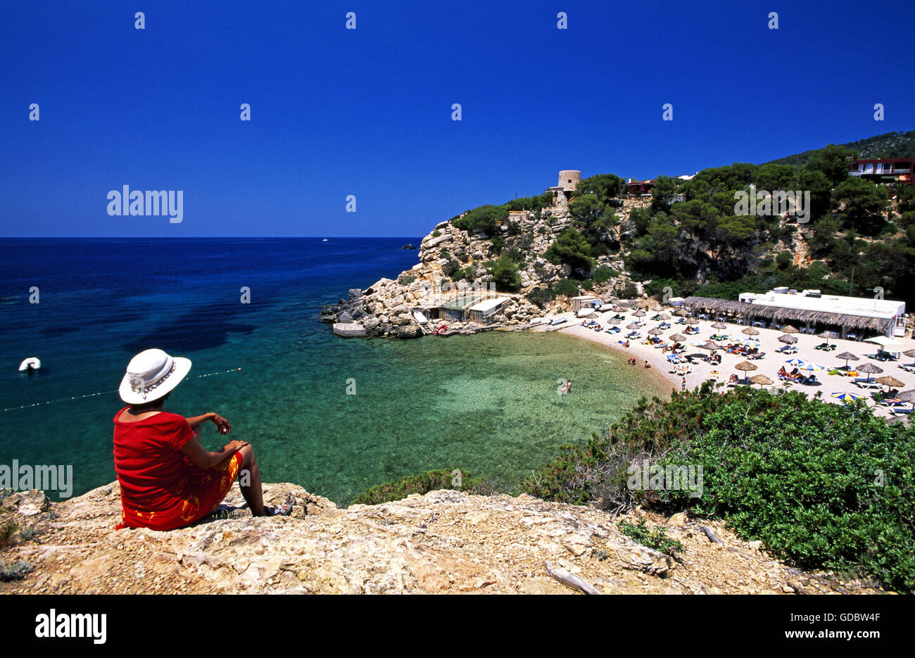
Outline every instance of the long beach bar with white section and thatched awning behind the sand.
{"label": "long beach bar with white section and thatched awning behind the sand", "polygon": [[684,307],[694,313],[743,318],[748,324],[781,327],[796,324],[815,333],[834,330],[842,338],[862,339],[882,334],[904,336],[906,303],[870,297],[823,295],[819,290],[774,288],[767,293],[741,293],[737,301],[713,297],[686,297]]}

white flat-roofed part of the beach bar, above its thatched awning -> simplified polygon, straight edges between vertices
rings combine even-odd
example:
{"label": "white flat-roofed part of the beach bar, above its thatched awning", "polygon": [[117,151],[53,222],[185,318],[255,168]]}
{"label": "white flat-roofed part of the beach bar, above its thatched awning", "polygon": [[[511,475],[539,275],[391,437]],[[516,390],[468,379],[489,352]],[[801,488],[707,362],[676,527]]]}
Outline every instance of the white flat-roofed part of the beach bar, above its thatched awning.
{"label": "white flat-roofed part of the beach bar, above its thatched awning", "polygon": [[829,313],[853,318],[876,318],[886,320],[878,323],[884,335],[904,336],[906,333],[906,303],[891,299],[823,295],[819,290],[798,292],[788,287],[780,287],[768,293],[741,293],[739,300],[754,306]]}

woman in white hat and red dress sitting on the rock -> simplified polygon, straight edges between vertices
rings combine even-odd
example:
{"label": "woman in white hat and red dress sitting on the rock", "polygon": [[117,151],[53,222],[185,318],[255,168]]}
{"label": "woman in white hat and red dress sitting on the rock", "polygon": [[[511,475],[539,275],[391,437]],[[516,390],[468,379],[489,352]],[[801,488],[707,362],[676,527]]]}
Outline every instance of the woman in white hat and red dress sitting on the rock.
{"label": "woman in white hat and red dress sitting on the rock", "polygon": [[285,515],[292,505],[264,505],[261,471],[246,441],[210,452],[199,426],[210,421],[221,435],[229,421],[208,413],[185,418],[163,411],[168,396],[190,371],[190,361],[146,350],[127,365],[118,393],[128,406],[114,415],[114,472],[121,485],[122,520],[116,527],[174,530],[208,516],[239,473],[242,496],[254,516]]}

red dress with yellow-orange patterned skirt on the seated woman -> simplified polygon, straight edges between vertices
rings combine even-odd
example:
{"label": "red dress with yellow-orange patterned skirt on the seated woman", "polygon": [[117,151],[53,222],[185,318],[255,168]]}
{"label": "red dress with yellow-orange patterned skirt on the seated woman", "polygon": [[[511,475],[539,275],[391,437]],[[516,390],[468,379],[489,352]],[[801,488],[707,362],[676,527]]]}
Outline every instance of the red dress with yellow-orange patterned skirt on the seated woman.
{"label": "red dress with yellow-orange patterned skirt on the seated woman", "polygon": [[114,415],[114,471],[124,508],[117,528],[173,530],[210,514],[231,489],[242,453],[200,469],[181,452],[194,436],[184,416],[160,412],[124,423],[118,420],[124,409]]}

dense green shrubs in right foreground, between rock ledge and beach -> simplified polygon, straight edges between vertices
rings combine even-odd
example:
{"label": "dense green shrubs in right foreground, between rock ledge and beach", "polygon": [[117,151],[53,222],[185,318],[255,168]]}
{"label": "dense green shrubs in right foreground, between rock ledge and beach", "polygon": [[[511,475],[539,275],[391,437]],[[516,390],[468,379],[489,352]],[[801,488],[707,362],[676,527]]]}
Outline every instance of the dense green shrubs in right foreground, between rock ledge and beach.
{"label": "dense green shrubs in right foreground, between rock ledge and beach", "polygon": [[[523,485],[548,501],[719,518],[802,568],[915,589],[915,427],[863,404],[704,385],[630,414]],[[703,491],[630,489],[630,466],[702,466]]]}

